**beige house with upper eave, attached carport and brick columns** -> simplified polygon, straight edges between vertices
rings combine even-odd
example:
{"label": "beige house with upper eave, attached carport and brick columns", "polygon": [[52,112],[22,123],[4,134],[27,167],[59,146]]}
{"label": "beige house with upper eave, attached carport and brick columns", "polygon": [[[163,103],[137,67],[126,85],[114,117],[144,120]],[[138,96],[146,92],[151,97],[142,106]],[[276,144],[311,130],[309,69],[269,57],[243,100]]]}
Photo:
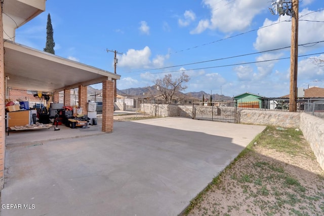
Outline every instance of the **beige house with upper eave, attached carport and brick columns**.
{"label": "beige house with upper eave, attached carport and brick columns", "polygon": [[[58,101],[64,91],[64,105],[70,105],[70,90],[78,88],[79,106],[86,112],[87,86],[102,83],[102,131],[113,129],[114,83],[120,75],[35,50],[15,42],[15,31],[45,11],[46,0],[10,0],[1,4],[0,16],[0,190],[4,187],[7,89],[49,92]],[[45,72],[46,71],[46,72]],[[71,78],[73,77],[73,78]]]}

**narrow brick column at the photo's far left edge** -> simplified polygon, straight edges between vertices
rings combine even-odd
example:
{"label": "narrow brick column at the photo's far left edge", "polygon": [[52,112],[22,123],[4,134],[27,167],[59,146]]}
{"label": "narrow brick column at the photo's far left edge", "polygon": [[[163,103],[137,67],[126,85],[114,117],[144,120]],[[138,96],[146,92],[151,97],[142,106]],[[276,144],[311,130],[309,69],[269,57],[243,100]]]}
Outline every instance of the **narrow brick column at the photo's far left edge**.
{"label": "narrow brick column at the photo's far left edge", "polygon": [[0,191],[5,185],[5,151],[6,151],[6,121],[5,121],[5,64],[4,64],[4,34],[2,13],[0,13]]}

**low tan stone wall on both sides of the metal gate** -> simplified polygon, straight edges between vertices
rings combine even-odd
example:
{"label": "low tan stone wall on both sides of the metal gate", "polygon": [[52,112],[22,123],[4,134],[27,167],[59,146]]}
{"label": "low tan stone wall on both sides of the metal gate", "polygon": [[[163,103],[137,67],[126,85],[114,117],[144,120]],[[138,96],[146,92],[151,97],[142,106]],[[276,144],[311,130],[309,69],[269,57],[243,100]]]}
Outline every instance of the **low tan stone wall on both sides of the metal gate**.
{"label": "low tan stone wall on both sides of the metal gate", "polygon": [[[194,118],[193,106],[175,106],[167,104],[141,105],[141,111],[157,117],[180,116]],[[194,110],[193,110],[194,109]],[[300,128],[309,143],[317,162],[324,169],[324,119],[304,112],[271,110],[238,110],[238,123],[275,125],[286,128]]]}

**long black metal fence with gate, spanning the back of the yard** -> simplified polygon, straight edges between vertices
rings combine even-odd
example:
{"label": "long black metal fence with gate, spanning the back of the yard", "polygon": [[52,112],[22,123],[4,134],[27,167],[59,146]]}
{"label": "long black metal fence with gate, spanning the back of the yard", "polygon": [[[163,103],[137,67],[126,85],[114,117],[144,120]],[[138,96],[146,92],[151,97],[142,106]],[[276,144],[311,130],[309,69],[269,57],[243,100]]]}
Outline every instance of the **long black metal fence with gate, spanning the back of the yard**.
{"label": "long black metal fence with gate, spanning the back of the yard", "polygon": [[[161,111],[168,109],[164,100],[159,99],[116,99],[118,104],[116,110],[126,110],[133,112],[150,113],[153,116],[161,117]],[[145,106],[143,106],[145,105]],[[152,108],[149,108],[151,105]],[[238,121],[238,112],[245,109],[265,110],[265,111],[289,111],[289,100],[281,98],[267,98],[260,101],[242,102],[242,101],[220,101],[220,102],[201,102],[194,100],[174,100],[169,105],[178,106],[181,116],[191,117],[193,119],[212,120],[222,122]],[[177,109],[177,108],[176,108]],[[303,99],[297,101],[297,112],[308,112],[324,118],[324,100]]]}

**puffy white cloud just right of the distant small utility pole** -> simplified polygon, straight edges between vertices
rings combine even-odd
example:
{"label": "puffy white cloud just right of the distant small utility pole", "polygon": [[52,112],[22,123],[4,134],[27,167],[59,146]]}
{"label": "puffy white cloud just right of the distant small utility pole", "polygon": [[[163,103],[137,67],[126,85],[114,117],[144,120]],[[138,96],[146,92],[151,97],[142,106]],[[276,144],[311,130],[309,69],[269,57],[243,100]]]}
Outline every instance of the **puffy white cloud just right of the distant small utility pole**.
{"label": "puffy white cloud just right of the distant small utility pole", "polygon": [[126,54],[119,56],[118,66],[129,68],[148,68],[150,61],[151,50],[145,47],[143,50],[130,49]]}

